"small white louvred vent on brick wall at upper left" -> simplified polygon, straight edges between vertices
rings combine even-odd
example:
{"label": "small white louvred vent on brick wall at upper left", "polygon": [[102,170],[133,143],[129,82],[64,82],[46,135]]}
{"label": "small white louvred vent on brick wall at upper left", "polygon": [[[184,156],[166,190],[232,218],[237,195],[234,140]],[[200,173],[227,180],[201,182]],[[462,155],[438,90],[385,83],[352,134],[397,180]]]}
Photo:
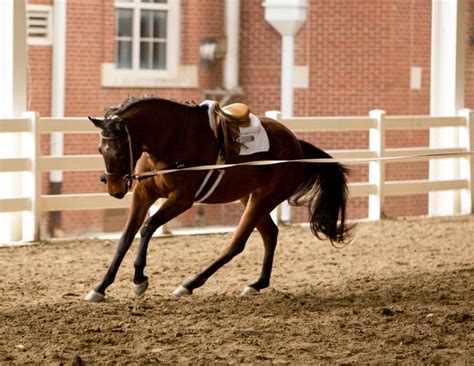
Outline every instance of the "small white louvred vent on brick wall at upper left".
{"label": "small white louvred vent on brick wall at upper left", "polygon": [[28,5],[27,34],[29,45],[52,45],[52,7]]}

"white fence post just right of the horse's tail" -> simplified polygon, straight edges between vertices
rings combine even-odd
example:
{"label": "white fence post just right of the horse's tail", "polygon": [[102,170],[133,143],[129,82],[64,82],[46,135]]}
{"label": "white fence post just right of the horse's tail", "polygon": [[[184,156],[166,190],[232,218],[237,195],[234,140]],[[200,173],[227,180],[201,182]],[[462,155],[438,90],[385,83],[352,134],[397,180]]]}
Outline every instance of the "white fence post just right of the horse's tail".
{"label": "white fence post just right of the horse's tail", "polygon": [[[369,131],[369,150],[376,153],[377,158],[382,158],[385,151],[385,111],[375,109],[369,112],[374,119],[375,127]],[[384,211],[384,182],[385,163],[371,161],[369,163],[369,183],[375,185],[375,194],[369,195],[369,220],[380,220]]]}

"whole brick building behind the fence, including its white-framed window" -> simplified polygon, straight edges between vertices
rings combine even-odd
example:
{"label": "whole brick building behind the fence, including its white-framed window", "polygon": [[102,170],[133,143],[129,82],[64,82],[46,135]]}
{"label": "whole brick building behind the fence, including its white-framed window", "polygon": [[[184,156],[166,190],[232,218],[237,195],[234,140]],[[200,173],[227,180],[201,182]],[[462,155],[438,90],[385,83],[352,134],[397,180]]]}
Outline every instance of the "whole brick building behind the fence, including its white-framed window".
{"label": "whole brick building behind the fence, including its white-framed window", "polygon": [[[56,0],[59,1],[59,0]],[[52,0],[28,0],[34,9]],[[296,116],[429,114],[431,0],[309,0],[308,18],[298,33]],[[37,7],[46,5],[46,7]],[[474,1],[467,2],[468,24]],[[141,18],[140,18],[141,17]],[[141,26],[137,24],[140,22]],[[203,62],[203,43],[222,43],[221,0],[67,0],[65,116],[102,115],[130,95],[158,95],[195,101],[212,97],[223,85],[222,60]],[[468,33],[471,27],[468,26]],[[31,30],[31,29],[30,29]],[[465,105],[474,107],[474,51],[466,34]],[[30,34],[33,36],[33,34]],[[280,108],[281,37],[264,19],[261,1],[240,3],[239,86],[231,100],[247,103],[256,114]],[[29,109],[51,114],[52,45],[29,46]],[[417,73],[419,85],[411,87]],[[323,149],[367,148],[367,133],[302,136]],[[428,131],[389,133],[390,147],[427,146]],[[42,142],[43,153],[49,141]],[[71,135],[65,154],[97,151],[97,135]],[[427,163],[388,164],[387,179],[423,179]],[[65,172],[63,192],[100,192],[98,172]],[[367,179],[353,167],[352,181]],[[45,187],[48,176],[44,176]],[[386,198],[388,216],[427,213],[427,195]],[[193,208],[181,224],[223,224],[236,220],[237,205]],[[295,210],[294,219],[302,219]],[[64,212],[69,233],[120,230],[124,210]],[[366,217],[367,199],[351,199],[351,217]],[[46,220],[46,218],[45,218]]]}

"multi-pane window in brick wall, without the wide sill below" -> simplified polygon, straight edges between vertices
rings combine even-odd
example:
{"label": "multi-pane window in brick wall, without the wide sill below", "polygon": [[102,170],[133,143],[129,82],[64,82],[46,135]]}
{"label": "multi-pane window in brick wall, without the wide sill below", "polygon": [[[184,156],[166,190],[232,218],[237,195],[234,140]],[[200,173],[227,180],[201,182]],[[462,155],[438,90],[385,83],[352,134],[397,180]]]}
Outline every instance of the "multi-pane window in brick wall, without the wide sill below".
{"label": "multi-pane window in brick wall, without the wide sill below", "polygon": [[117,69],[175,71],[177,5],[176,0],[115,1]]}

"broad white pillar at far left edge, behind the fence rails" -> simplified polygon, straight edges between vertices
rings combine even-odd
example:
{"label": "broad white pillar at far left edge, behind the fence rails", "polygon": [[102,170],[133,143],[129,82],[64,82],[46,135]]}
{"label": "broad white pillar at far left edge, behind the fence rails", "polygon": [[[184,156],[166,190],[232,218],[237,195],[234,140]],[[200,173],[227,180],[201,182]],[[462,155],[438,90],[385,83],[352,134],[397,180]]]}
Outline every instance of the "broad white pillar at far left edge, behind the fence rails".
{"label": "broad white pillar at far left edge, behind the fence rails", "polygon": [[[27,109],[26,1],[0,1],[0,55],[0,117],[20,118]],[[0,136],[0,156],[19,157],[21,141],[19,134]],[[22,196],[22,173],[0,176],[0,195]],[[21,240],[21,217],[20,212],[0,214],[0,241]]]}

